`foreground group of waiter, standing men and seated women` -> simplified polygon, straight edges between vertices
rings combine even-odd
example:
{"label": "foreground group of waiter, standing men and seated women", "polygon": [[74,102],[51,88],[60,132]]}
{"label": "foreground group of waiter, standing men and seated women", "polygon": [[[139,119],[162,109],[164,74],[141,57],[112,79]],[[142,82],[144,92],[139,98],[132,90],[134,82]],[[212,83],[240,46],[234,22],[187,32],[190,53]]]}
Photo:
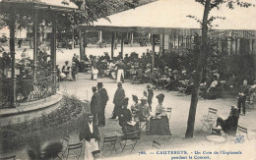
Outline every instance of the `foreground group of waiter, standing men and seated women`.
{"label": "foreground group of waiter, standing men and seated women", "polygon": [[[91,99],[91,112],[86,120],[86,125],[80,131],[79,137],[85,140],[86,156],[92,157],[92,151],[98,149],[99,133],[97,127],[104,127],[105,123],[104,110],[109,100],[107,90],[103,87],[102,82],[97,82],[92,87],[94,92]],[[152,100],[154,91],[151,84],[141,93],[139,99],[137,95],[132,95],[133,103],[129,105],[129,98],[125,93],[121,81],[117,82],[117,89],[114,94],[112,117],[110,119],[119,121],[119,126],[124,134],[141,131],[141,123],[146,123],[147,134],[171,135],[169,129],[169,117],[166,114],[166,107],[163,105],[164,94],[156,96],[158,105],[156,111],[152,110]],[[140,102],[139,102],[140,100]]]}

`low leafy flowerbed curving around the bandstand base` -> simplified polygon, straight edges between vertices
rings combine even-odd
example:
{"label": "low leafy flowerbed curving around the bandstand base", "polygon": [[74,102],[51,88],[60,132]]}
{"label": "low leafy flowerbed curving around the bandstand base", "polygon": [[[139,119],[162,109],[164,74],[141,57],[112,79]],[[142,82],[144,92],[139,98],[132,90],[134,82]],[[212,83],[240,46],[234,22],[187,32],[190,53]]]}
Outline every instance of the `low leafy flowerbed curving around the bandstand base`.
{"label": "low leafy flowerbed curving around the bandstand base", "polygon": [[[32,142],[32,138],[35,135],[36,139],[36,134],[39,134],[40,139],[44,141],[49,137],[58,139],[64,134],[73,133],[80,127],[82,110],[88,113],[90,111],[89,104],[79,101],[76,97],[64,96],[60,108],[49,114],[42,114],[41,117],[30,121],[25,120],[21,124],[13,125],[10,121],[9,125],[0,129],[0,141],[2,141],[0,153],[12,152],[17,148],[24,147],[28,142],[35,148],[36,144]],[[31,154],[32,157],[36,157],[34,151]]]}

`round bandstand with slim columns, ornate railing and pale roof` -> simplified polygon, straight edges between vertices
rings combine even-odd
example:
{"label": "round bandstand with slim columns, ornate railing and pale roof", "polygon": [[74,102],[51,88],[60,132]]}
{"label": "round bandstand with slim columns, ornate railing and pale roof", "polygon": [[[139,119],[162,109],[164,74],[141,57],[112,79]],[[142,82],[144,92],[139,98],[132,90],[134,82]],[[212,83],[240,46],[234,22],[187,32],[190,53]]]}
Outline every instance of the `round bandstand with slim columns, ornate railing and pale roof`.
{"label": "round bandstand with slim columns, ornate railing and pale roof", "polygon": [[[52,97],[56,96],[58,88],[56,79],[56,15],[78,13],[80,12],[78,6],[68,0],[0,0],[0,12],[9,17],[7,26],[10,29],[9,46],[11,55],[11,64],[4,68],[0,77],[0,116],[6,117],[22,112],[31,112],[58,103],[61,100],[59,96],[52,100]],[[15,50],[15,31],[19,16],[26,16],[32,20],[33,35],[32,59],[25,55],[25,58],[21,60],[23,61],[22,64],[21,61],[17,61]],[[47,16],[47,20],[44,19],[45,16]],[[47,58],[46,62],[41,62],[38,58],[40,56],[37,33],[38,20],[50,20],[50,22],[47,22],[51,27],[50,61],[48,62]],[[29,67],[28,64],[30,64]],[[25,70],[21,71],[21,69],[18,69],[19,67],[28,67],[29,70],[24,72]],[[50,100],[47,100],[48,98]],[[49,101],[51,103],[48,103]]]}

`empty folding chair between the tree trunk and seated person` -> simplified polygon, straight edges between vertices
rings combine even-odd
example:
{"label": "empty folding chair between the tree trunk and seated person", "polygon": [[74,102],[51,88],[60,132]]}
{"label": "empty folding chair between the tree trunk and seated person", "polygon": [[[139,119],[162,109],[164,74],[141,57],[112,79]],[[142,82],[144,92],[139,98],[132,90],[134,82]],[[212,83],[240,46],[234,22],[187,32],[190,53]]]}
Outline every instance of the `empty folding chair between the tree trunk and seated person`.
{"label": "empty folding chair between the tree trunk and seated person", "polygon": [[212,130],[214,124],[216,123],[217,112],[218,112],[217,109],[209,108],[208,114],[203,115],[203,119],[201,120],[201,122],[203,124],[201,131],[205,127],[211,133],[211,130]]}

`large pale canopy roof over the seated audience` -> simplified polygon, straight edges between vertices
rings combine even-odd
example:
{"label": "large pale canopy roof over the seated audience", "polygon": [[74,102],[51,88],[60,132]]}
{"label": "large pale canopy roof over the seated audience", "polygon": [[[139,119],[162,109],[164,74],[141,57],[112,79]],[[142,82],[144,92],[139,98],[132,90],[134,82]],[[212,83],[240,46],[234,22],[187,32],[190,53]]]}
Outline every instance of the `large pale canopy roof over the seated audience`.
{"label": "large pale canopy roof over the seated audience", "polygon": [[[248,0],[247,0],[248,1]],[[253,0],[249,0],[256,3]],[[210,16],[224,17],[215,20],[212,29],[220,34],[226,30],[235,30],[235,35],[256,38],[256,8],[241,8],[234,6],[228,9],[225,4],[220,9],[211,11]],[[152,33],[176,33],[191,35],[200,34],[200,24],[188,16],[202,19],[204,6],[195,0],[159,0],[144,6],[130,9],[98,19],[93,26],[83,25],[88,29],[107,29],[112,31],[140,31]],[[218,25],[218,26],[216,26]],[[232,32],[233,32],[232,31]],[[230,33],[230,32],[228,32]]]}

